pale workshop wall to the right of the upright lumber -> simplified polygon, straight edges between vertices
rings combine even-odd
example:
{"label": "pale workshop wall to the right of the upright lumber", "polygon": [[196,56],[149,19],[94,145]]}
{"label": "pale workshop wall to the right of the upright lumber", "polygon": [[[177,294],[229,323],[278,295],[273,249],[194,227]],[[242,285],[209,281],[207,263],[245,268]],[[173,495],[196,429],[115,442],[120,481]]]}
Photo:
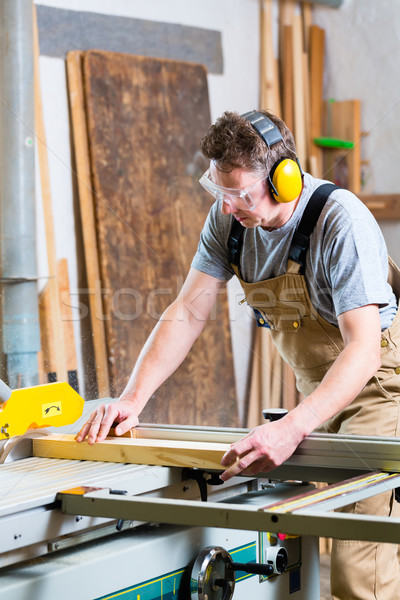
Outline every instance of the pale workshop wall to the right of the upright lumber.
{"label": "pale workshop wall to the right of the upright lumber", "polygon": [[[315,5],[326,30],[325,97],[361,100],[363,191],[398,193],[400,155],[400,3],[345,0],[339,9]],[[380,223],[390,254],[400,263],[400,224]]]}

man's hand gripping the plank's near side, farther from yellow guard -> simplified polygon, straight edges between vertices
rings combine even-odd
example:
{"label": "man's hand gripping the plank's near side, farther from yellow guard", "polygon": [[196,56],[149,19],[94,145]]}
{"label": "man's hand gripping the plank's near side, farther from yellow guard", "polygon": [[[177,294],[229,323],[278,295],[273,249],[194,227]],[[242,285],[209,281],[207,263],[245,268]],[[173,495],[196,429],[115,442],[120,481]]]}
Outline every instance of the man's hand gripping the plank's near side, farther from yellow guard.
{"label": "man's hand gripping the plank's near side, farther from yellow guard", "polygon": [[293,435],[285,419],[256,427],[244,438],[232,444],[221,464],[228,467],[221,475],[223,481],[242,473],[255,475],[278,467],[289,458],[302,436]]}

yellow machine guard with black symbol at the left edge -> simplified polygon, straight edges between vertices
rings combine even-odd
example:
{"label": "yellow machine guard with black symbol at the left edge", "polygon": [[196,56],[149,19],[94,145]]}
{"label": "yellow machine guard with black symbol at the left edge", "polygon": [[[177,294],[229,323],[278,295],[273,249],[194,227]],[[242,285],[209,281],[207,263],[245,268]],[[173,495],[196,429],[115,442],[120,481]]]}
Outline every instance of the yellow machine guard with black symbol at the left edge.
{"label": "yellow machine guard with black symbol at the left edge", "polygon": [[13,390],[0,405],[0,440],[29,429],[71,425],[82,415],[84,400],[65,382]]}

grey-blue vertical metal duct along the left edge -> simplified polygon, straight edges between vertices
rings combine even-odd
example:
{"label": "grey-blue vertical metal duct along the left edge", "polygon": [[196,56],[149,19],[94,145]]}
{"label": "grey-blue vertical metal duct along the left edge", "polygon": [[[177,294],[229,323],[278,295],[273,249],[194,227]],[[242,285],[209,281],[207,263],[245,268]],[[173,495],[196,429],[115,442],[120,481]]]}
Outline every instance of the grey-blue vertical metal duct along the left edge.
{"label": "grey-blue vertical metal duct along the left edge", "polygon": [[11,388],[38,383],[32,37],[32,0],[1,0],[0,289]]}

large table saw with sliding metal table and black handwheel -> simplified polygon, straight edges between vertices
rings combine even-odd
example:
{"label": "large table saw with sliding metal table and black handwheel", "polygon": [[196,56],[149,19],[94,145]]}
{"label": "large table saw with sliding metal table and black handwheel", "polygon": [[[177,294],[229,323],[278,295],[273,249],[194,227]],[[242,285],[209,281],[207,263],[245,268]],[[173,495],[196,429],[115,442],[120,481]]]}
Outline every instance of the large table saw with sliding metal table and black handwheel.
{"label": "large table saw with sliding metal table and black handwheel", "polygon": [[[226,483],[190,463],[50,457],[94,404],[73,425],[2,442],[1,600],[319,600],[318,536],[400,541],[400,519],[332,512],[400,487],[397,439],[315,434],[273,472]],[[221,447],[245,433],[137,428]],[[46,438],[48,456],[35,455]]]}

